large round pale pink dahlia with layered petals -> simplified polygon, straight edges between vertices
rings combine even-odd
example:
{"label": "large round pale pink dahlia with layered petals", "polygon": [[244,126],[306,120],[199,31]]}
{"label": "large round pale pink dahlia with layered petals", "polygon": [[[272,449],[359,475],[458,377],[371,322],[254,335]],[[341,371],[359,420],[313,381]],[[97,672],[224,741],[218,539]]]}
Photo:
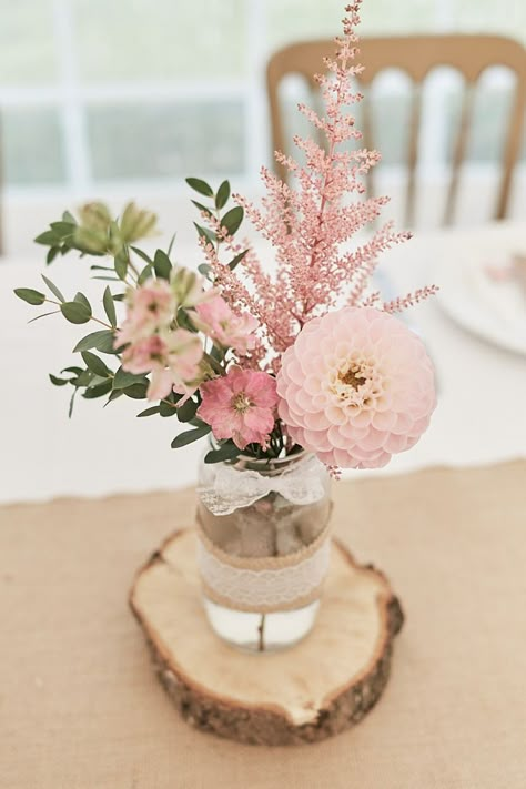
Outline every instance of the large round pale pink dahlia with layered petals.
{"label": "large round pale pink dahlia with layered petals", "polygon": [[423,342],[374,307],[305,324],[283,354],[277,394],[291,437],[342,468],[385,466],[418,441],[436,404]]}

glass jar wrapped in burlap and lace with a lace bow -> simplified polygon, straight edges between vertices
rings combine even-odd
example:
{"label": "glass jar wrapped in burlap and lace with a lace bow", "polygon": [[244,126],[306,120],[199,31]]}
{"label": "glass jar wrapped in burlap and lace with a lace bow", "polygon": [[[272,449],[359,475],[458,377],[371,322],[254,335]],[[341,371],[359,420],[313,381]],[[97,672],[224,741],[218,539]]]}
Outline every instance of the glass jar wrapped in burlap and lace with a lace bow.
{"label": "glass jar wrapped in burlap and lace with a lace bow", "polygon": [[314,625],[328,569],[330,477],[301,451],[279,459],[201,463],[199,567],[213,630],[270,651]]}

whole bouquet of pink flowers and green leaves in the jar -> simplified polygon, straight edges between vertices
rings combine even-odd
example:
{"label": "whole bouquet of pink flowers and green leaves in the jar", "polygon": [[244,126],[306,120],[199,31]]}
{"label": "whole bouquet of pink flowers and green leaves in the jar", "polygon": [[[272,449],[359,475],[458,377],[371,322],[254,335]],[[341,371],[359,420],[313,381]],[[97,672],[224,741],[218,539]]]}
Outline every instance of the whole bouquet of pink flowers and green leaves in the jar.
{"label": "whole bouquet of pink flowers and green leaves in the jar", "polygon": [[[294,138],[304,165],[275,154],[294,185],[263,168],[262,205],[233,194],[231,208],[227,181],[214,191],[188,179],[200,200],[210,201],[195,203],[200,274],[174,264],[171,245],[153,257],[135,245],[151,235],[155,218],[133,203],[120,220],[101,203],[84,206],[80,221],[65,212],[37,239],[50,247],[48,262],[72,250],[108,255],[110,279],[121,283],[117,292],[104,291],[107,321],[93,316],[83,294],[67,301],[45,277],[53,297],[17,291],[30,304],[58,305],[72,323],[98,322],[75,347],[84,367],[69,367],[53,383],[72,385],[73,397],[83,390],[108,402],[122,395],[158,401],[139,415],[175,415],[186,425],[174,447],[212,433],[211,463],[235,462],[241,452],[270,461],[303,447],[330,467],[373,468],[419,438],[435,407],[433,368],[422,341],[392,313],[436,289],[390,302],[371,289],[381,253],[409,237],[391,223],[350,244],[387,202],[363,196],[380,154],[360,146],[348,114],[362,99],[352,90],[362,70],[354,62],[358,7],[347,6],[336,53],[315,78],[324,111],[299,105],[325,144]],[[272,245],[274,274],[235,239],[245,214]],[[108,354],[108,364],[95,352]]]}

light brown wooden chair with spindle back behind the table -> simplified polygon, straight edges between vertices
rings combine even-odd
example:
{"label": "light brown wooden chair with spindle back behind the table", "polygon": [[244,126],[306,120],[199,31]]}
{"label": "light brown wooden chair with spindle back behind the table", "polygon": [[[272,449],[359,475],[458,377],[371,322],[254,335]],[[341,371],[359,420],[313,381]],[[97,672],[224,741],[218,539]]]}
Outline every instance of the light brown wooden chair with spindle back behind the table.
{"label": "light brown wooden chair with spindle back behind the table", "polygon": [[[267,64],[266,80],[272,123],[273,150],[284,150],[283,123],[279,102],[279,85],[287,74],[300,74],[311,91],[317,88],[313,73],[323,70],[323,58],[334,53],[333,41],[307,41],[295,43],[276,52]],[[495,219],[506,215],[512,175],[520,149],[520,134],[526,108],[526,50],[513,39],[499,36],[401,36],[394,38],[363,39],[358,60],[365,65],[360,84],[370,87],[375,77],[386,69],[399,69],[412,79],[415,90],[412,99],[408,130],[406,222],[412,223],[415,208],[415,170],[417,162],[418,130],[421,124],[422,83],[432,69],[449,65],[464,77],[465,91],[461,110],[458,134],[454,144],[452,173],[447,188],[444,223],[453,221],[458,192],[458,174],[466,153],[466,140],[472,120],[476,83],[487,68],[505,65],[516,77],[514,103],[506,133],[502,175]],[[363,143],[374,148],[371,129],[371,107],[367,98],[363,103]],[[276,172],[286,179],[286,171],[275,163]],[[372,174],[367,182],[368,194],[373,193]]]}

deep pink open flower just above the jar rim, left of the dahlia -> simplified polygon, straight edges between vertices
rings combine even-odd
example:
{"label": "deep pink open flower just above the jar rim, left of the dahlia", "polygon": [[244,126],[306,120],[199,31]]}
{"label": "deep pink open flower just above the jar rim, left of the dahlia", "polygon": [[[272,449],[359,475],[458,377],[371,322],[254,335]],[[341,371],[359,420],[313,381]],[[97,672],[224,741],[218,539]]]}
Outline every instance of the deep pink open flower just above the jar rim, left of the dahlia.
{"label": "deep pink open flower just above the jar rim, left of the dahlia", "polygon": [[200,391],[198,416],[211,425],[215,438],[232,438],[240,449],[253,443],[266,446],[277,404],[275,378],[233,366]]}

